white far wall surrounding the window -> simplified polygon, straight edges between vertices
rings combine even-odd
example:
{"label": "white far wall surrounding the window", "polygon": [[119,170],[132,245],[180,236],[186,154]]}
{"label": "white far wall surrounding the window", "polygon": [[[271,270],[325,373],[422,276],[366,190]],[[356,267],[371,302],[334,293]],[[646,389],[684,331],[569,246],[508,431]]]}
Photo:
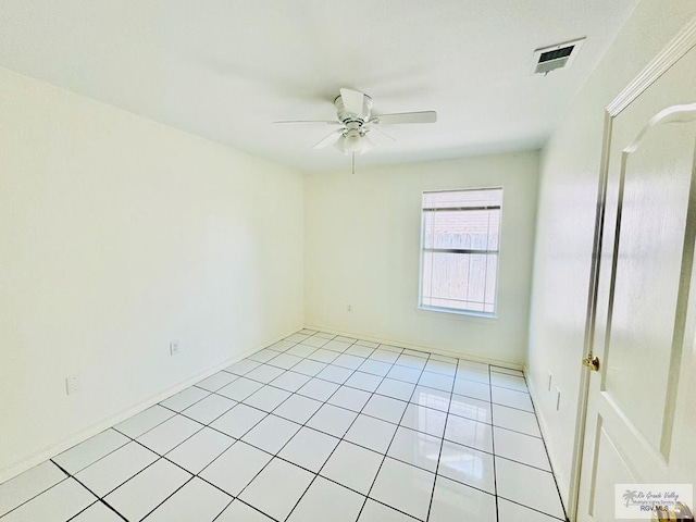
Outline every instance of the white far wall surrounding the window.
{"label": "white far wall surrounding the window", "polygon": [[[307,175],[308,325],[521,363],[536,151]],[[504,187],[498,319],[417,310],[423,190]],[[352,312],[347,311],[348,303]]]}

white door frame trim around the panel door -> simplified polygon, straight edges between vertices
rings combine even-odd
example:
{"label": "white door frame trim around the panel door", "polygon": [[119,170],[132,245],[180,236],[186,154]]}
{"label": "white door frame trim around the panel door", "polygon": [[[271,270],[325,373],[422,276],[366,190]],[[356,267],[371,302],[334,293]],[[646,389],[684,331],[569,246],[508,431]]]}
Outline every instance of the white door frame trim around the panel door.
{"label": "white door frame trim around the panel door", "polygon": [[[606,195],[609,179],[609,154],[611,150],[611,130],[614,119],[633,103],[648,87],[662,76],[672,65],[679,62],[689,50],[696,47],[696,16],[694,16],[667,46],[638,73],[638,75],[605,108],[604,137],[601,161],[597,183],[597,210],[595,213],[595,233],[592,248],[589,285],[587,290],[587,310],[583,339],[583,357],[592,353],[595,322],[597,314],[597,288],[599,284],[599,260],[605,224]],[[577,361],[580,363],[580,361]],[[577,405],[575,438],[573,445],[572,468],[570,477],[570,495],[568,517],[577,519],[580,478],[585,444],[585,425],[587,421],[587,401],[589,398],[589,378],[592,373],[584,369],[580,383],[580,401]]]}

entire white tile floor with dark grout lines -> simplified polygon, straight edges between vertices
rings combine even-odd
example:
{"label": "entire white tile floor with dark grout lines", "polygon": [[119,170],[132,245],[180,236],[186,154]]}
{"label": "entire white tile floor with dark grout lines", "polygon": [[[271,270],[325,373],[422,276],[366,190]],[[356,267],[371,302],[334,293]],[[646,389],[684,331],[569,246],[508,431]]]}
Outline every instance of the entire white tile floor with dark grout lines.
{"label": "entire white tile floor with dark grout lines", "polygon": [[0,485],[0,521],[566,520],[522,373],[303,330]]}

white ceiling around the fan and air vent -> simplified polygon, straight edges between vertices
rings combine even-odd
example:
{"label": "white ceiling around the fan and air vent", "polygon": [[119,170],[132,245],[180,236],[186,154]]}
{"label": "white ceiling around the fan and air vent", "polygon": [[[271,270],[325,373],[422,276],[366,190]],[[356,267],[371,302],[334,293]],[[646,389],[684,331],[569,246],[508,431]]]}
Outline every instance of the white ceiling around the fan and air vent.
{"label": "white ceiling around the fan and air vent", "polygon": [[[357,160],[402,163],[538,148],[637,0],[2,0],[0,66],[307,171],[340,87],[374,113],[435,110],[383,127]],[[532,53],[586,36],[573,65]]]}

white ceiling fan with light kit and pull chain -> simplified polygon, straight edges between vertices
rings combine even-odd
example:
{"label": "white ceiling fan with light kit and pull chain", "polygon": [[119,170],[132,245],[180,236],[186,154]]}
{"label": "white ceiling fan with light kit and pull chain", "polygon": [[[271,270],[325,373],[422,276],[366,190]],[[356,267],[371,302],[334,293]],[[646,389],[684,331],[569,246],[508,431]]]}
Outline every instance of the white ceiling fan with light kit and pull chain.
{"label": "white ceiling fan with light kit and pull chain", "polygon": [[387,136],[380,125],[393,125],[401,123],[435,123],[435,111],[399,112],[394,114],[372,114],[372,98],[364,92],[353,89],[340,89],[340,94],[334,100],[337,120],[291,120],[274,123],[323,123],[338,125],[339,128],[314,145],[314,149],[321,149],[333,145],[344,154],[356,152],[363,154],[372,150],[376,144],[370,138],[369,133],[377,130]]}

